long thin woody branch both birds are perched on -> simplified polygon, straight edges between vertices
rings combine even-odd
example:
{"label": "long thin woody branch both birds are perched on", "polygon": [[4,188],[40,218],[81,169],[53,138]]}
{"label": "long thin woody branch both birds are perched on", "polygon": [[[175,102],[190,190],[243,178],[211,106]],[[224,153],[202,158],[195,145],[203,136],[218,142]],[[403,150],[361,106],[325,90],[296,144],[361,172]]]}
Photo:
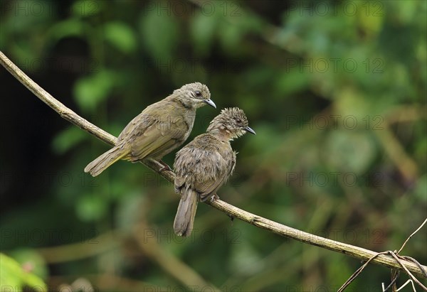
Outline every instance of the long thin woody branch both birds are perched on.
{"label": "long thin woody branch both birds are perched on", "polygon": [[[51,94],[46,92],[46,90],[43,90],[43,88],[37,85],[36,82],[33,82],[33,80],[31,80],[30,77],[28,77],[24,72],[22,72],[19,67],[16,67],[16,65],[12,63],[11,60],[9,60],[9,58],[7,58],[6,55],[4,55],[4,53],[2,53],[1,51],[0,63],[6,68],[6,70],[11,73],[11,75],[14,75],[17,80],[19,80],[25,87],[27,87],[28,90],[33,92],[36,97],[48,104],[48,106],[51,107],[54,111],[58,112],[61,117],[63,117],[67,121],[70,121],[70,123],[75,124],[80,129],[88,131],[90,134],[93,134],[105,143],[110,144],[112,146],[115,145],[117,141],[117,138],[115,136],[112,136],[111,134],[98,128],[94,124],[91,124],[89,121],[83,119],[71,109],[68,109],[68,107],[65,107],[64,104],[58,102],[58,100],[55,99]],[[151,168],[153,171],[159,173],[159,175],[162,175],[164,178],[169,180],[169,182],[173,183],[175,175],[172,171],[161,172],[160,169],[162,168],[162,166],[157,163],[157,161],[144,161],[143,163],[149,168]],[[369,249],[363,249],[361,247],[356,247],[351,244],[344,244],[342,242],[337,242],[324,237],[319,237],[315,234],[310,234],[292,227],[288,227],[286,225],[282,225],[278,222],[268,220],[264,217],[260,217],[245,210],[241,210],[238,207],[224,202],[223,200],[214,200],[213,202],[206,201],[206,203],[222,212],[225,212],[228,215],[232,215],[233,217],[236,217],[244,222],[248,222],[249,224],[254,225],[255,227],[260,227],[275,234],[279,234],[283,237],[296,239],[300,242],[312,244],[317,247],[330,249],[333,252],[347,254],[356,259],[368,261],[372,256],[375,256],[377,254],[377,252],[373,252]],[[399,262],[397,262],[393,258],[393,256],[389,256],[388,254],[381,254],[379,256],[376,256],[375,259],[371,260],[371,262],[375,264],[380,264],[382,266],[387,266],[391,269],[398,269],[404,271],[404,267],[402,267]],[[411,271],[413,274],[425,278],[423,271],[421,271],[420,267],[418,267],[413,262],[408,260],[401,260],[401,263],[406,266],[406,269],[408,269],[408,271]],[[427,266],[422,266],[422,268],[427,271]]]}

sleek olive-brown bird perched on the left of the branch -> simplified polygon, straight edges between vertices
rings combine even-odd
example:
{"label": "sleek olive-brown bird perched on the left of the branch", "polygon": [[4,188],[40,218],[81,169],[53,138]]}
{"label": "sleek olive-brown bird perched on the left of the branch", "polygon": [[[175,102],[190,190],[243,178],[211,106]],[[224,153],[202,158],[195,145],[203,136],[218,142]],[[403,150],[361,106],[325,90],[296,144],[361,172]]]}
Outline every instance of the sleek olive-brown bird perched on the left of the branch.
{"label": "sleek olive-brown bird perched on the left of the branch", "polygon": [[162,157],[186,141],[193,129],[196,109],[209,104],[208,87],[199,82],[186,84],[159,102],[149,105],[123,129],[115,147],[103,153],[85,167],[93,176],[120,159],[140,161],[152,158],[162,163]]}

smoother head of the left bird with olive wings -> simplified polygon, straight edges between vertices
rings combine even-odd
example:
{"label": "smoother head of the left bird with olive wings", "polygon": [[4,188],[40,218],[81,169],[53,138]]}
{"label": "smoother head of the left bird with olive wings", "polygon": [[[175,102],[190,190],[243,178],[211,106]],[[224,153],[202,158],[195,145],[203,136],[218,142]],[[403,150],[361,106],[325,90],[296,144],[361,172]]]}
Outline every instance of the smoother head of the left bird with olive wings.
{"label": "smoother head of the left bird with olive wings", "polygon": [[174,95],[179,97],[186,107],[194,107],[197,109],[203,107],[205,104],[209,104],[211,107],[216,108],[215,103],[211,99],[209,88],[200,82],[183,85],[181,88],[174,91]]}

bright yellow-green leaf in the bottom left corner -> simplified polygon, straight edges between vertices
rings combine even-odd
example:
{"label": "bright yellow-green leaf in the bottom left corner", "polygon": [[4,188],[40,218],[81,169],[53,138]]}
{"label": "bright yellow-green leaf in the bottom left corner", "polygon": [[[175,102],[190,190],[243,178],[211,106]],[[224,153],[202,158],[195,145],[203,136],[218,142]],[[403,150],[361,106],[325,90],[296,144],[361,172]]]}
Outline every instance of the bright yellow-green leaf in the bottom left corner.
{"label": "bright yellow-green leaf in the bottom left corner", "polygon": [[37,291],[47,291],[44,281],[35,274],[25,271],[18,261],[5,254],[0,254],[0,290],[13,287],[22,291],[24,286],[30,286]]}

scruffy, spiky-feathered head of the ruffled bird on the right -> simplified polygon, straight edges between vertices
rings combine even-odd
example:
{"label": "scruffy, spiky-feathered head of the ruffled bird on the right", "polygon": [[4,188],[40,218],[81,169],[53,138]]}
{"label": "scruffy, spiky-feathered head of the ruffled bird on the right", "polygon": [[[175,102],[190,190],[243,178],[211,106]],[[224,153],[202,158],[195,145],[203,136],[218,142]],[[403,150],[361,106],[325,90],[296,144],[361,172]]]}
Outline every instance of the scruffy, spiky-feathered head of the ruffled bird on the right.
{"label": "scruffy, spiky-feathered head of the ruffled bird on the right", "polygon": [[209,124],[207,132],[221,132],[226,134],[230,140],[238,138],[246,132],[255,135],[255,131],[249,127],[246,114],[238,107],[221,110],[221,114],[218,114]]}

